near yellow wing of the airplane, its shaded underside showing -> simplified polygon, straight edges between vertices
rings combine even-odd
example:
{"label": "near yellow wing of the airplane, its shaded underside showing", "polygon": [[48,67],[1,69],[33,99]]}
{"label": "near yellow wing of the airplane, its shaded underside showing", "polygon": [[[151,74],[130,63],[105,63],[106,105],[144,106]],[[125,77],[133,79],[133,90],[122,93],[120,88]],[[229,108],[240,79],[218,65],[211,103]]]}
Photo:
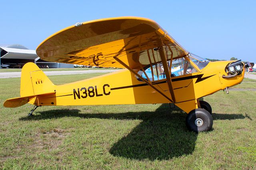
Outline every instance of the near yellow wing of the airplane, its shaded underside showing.
{"label": "near yellow wing of the airplane, its shaded underside showing", "polygon": [[130,68],[161,61],[157,48],[164,45],[166,58],[188,54],[156,22],[139,17],[93,20],[65,28],[42,42],[36,49],[41,59],[100,67]]}

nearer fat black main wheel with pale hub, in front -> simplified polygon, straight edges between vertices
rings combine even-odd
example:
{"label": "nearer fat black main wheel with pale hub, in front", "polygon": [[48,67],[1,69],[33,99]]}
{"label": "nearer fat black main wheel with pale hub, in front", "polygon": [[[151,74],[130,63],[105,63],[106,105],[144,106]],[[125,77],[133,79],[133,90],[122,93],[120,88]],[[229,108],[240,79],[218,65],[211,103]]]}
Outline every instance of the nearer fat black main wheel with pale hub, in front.
{"label": "nearer fat black main wheel with pale hub, in front", "polygon": [[186,127],[194,132],[207,132],[212,124],[212,115],[205,109],[194,109],[186,117]]}

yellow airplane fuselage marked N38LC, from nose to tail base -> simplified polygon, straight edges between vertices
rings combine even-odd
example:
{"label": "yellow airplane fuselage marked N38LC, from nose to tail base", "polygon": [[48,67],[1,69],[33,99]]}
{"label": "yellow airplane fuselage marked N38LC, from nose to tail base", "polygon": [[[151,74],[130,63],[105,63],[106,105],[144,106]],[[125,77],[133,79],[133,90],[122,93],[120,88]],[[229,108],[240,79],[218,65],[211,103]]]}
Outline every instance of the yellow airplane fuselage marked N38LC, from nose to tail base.
{"label": "yellow airplane fuselage marked N38LC, from nose to tail base", "polygon": [[[191,110],[188,104],[195,102],[195,99],[241,83],[244,70],[236,77],[222,78],[222,75],[226,75],[224,68],[228,63],[230,61],[210,62],[204,69],[196,73],[172,77],[175,104],[188,113]],[[166,79],[155,81],[152,84],[166,96],[172,98]],[[54,85],[50,88],[56,93],[39,95],[37,99],[31,100],[29,103],[36,102],[37,105],[42,106],[171,103],[127,69],[74,83]],[[183,105],[187,107],[182,107]]]}

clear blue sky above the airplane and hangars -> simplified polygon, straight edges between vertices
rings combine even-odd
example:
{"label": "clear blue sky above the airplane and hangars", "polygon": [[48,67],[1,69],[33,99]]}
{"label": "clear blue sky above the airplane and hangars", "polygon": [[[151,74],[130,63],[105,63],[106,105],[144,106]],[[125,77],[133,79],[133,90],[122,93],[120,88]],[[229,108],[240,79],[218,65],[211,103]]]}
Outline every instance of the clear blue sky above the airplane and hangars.
{"label": "clear blue sky above the airplane and hangars", "polygon": [[140,16],[155,20],[196,55],[256,63],[254,0],[5,0],[0,6],[0,44],[36,49],[48,36],[76,22]]}

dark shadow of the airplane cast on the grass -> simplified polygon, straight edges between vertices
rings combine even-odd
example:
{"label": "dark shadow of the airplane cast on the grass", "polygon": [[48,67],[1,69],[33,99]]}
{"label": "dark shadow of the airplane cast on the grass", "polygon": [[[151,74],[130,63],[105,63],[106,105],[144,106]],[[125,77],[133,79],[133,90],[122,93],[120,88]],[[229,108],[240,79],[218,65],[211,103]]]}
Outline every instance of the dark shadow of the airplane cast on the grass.
{"label": "dark shadow of the airplane cast on the grass", "polygon": [[[61,117],[81,117],[98,119],[140,119],[140,123],[127,136],[114,143],[109,152],[113,156],[122,156],[136,160],[168,160],[173,157],[192,154],[197,135],[185,126],[185,113],[168,104],[162,104],[155,112],[128,113],[79,113],[78,109],[50,110],[37,112],[33,117],[23,117],[20,121],[57,119]],[[216,114],[213,119],[244,119],[242,114]]]}

